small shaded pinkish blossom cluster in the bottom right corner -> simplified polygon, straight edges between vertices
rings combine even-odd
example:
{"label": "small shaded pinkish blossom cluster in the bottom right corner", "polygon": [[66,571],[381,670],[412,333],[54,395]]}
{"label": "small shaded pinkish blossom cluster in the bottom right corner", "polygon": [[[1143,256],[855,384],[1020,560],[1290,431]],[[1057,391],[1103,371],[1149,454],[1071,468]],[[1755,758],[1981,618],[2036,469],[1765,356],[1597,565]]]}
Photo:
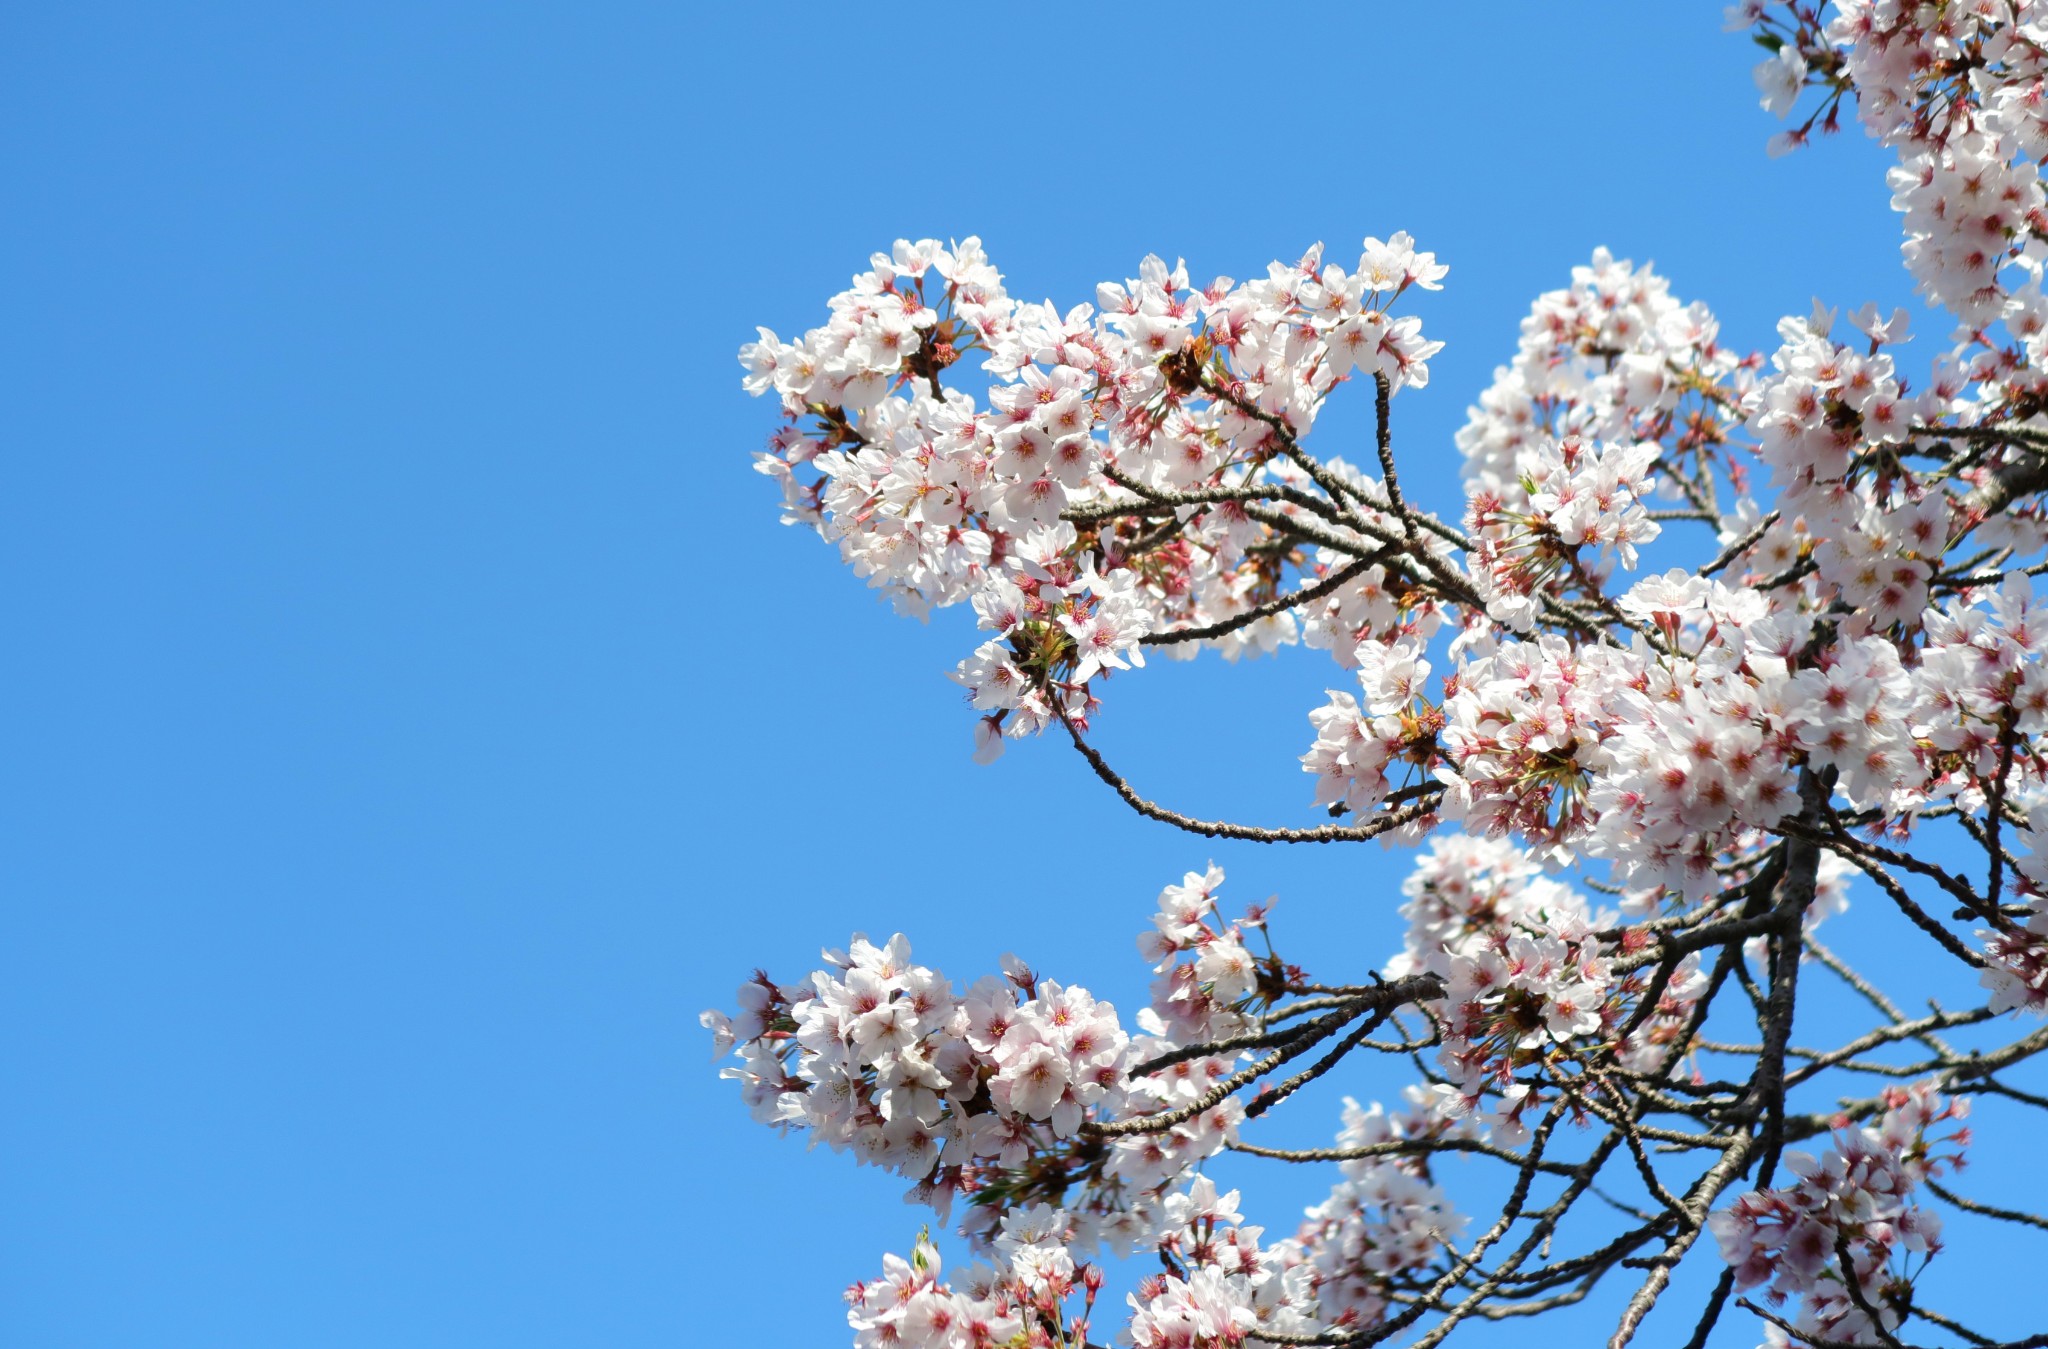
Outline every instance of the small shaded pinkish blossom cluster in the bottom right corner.
{"label": "small shaded pinkish blossom cluster in the bottom right corner", "polygon": [[1798,1298],[1794,1329],[1810,1339],[1878,1343],[1864,1308],[1876,1308],[1884,1331],[1896,1329],[1911,1304],[1905,1257],[1942,1249],[1942,1218],[1913,1204],[1913,1189],[1960,1167],[1970,1140],[1966,1128],[1946,1138],[1929,1130],[1966,1114],[1966,1099],[1944,1099],[1931,1083],[1892,1087],[1876,1128],[1837,1128],[1821,1159],[1786,1152],[1794,1185],[1745,1193],[1708,1218],[1735,1286],[1767,1283],[1776,1302]]}

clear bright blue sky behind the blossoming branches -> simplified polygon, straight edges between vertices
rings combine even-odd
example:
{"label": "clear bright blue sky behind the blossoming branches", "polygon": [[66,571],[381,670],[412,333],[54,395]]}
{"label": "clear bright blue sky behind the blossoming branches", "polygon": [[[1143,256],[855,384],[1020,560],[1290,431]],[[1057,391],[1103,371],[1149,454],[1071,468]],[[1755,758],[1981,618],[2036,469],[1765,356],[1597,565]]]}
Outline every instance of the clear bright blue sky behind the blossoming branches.
{"label": "clear bright blue sky behind the blossoming branches", "polygon": [[[1743,346],[1909,301],[1880,151],[1767,162],[1718,4],[1386,10],[8,6],[0,1343],[846,1343],[918,1212],[715,1079],[750,968],[905,929],[1130,1009],[1212,856],[1311,968],[1376,966],[1399,854],[1171,835],[1053,743],[973,766],[971,624],[776,526],[733,350],[897,235],[1073,303],[1409,229],[1450,346],[1399,440],[1454,510],[1466,401],[1595,244]],[[1298,821],[1335,682],[1155,665],[1102,737]]]}

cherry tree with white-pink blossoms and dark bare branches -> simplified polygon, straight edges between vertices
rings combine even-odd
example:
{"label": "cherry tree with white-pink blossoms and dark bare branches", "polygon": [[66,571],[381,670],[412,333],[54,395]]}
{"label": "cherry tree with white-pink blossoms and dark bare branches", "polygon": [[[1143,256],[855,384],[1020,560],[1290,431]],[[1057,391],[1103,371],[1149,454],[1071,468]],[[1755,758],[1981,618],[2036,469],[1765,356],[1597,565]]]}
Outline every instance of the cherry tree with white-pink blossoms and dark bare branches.
{"label": "cherry tree with white-pink blossoms and dark bare branches", "polygon": [[[1731,27],[1767,108],[1812,104],[1774,149],[1845,108],[1896,149],[1905,262],[1958,321],[1911,377],[1903,313],[1745,356],[1595,252],[1536,299],[1438,514],[1395,397],[1446,268],[1405,233],[1251,280],[1147,258],[1071,309],[1014,301],[977,240],[899,242],[741,352],[784,522],[901,610],[979,618],[981,759],[1053,735],[1163,827],[1415,850],[1403,950],[1335,981],[1210,868],[1161,893],[1130,1017],[1012,958],[948,981],[901,935],[707,1013],[758,1120],[899,1173],[981,1257],[887,1257],[850,1292],[862,1349],[1425,1347],[1595,1294],[1622,1345],[1694,1247],[1712,1292],[1659,1343],[1733,1306],[1780,1345],[2001,1343],[1913,1290],[1944,1208],[2048,1228],[1950,1175],[1974,1095],[2048,1109],[2009,1081],[2048,1050],[2048,0]],[[1315,446],[1337,397],[1372,401],[1368,463]],[[1645,573],[1653,540],[1690,565]],[[1286,645],[1348,671],[1309,712],[1323,819],[1194,819],[1092,745],[1147,653]],[[1839,958],[1851,884],[1982,997],[1919,1013]],[[1868,1030],[1806,1048],[1819,997]],[[1331,1148],[1257,1140],[1366,1054],[1411,1067],[1399,1103],[1348,1105]],[[1268,1238],[1202,1173],[1223,1150],[1329,1163],[1329,1193]],[[1450,1155],[1497,1169],[1497,1212],[1454,1210]],[[1153,1271],[1104,1296],[1130,1253]],[[2032,1320],[2003,1343],[2048,1345]]]}

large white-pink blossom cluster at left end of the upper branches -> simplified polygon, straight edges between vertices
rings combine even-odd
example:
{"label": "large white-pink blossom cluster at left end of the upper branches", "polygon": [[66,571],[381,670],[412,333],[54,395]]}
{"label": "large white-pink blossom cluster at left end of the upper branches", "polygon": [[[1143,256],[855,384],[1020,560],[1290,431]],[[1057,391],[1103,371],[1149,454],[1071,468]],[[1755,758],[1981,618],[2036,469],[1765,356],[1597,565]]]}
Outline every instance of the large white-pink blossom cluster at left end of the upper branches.
{"label": "large white-pink blossom cluster at left end of the upper branches", "polygon": [[[1260,606],[1288,571],[1313,583],[1341,563],[1255,547],[1303,510],[1290,448],[1337,383],[1427,383],[1442,344],[1391,305],[1444,272],[1405,233],[1366,240],[1352,272],[1315,248],[1200,289],[1147,258],[1098,287],[1100,309],[1061,313],[1010,301],[979,240],[899,242],[823,328],[799,342],[762,330],[741,350],[745,387],[784,411],[758,467],[782,481],[784,520],[838,542],[901,608],[973,602],[991,637],[954,678],[993,757],[1055,710],[1085,716],[1092,680],[1143,665],[1151,633],[1219,628],[1204,641],[1227,655],[1300,641],[1292,612]],[[971,350],[985,405],[944,383]],[[1327,473],[1356,493],[1329,536],[1384,532],[1378,483]],[[1362,612],[1384,583],[1382,569],[1331,594],[1309,639],[1348,659],[1389,622]]]}

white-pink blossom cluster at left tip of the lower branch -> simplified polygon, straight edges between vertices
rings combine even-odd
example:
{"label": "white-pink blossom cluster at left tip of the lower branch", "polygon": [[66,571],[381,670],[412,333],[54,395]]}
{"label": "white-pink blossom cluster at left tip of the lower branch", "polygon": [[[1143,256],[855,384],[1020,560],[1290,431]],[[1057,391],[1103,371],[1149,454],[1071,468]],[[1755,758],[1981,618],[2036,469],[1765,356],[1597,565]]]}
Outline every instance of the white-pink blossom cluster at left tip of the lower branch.
{"label": "white-pink blossom cluster at left tip of the lower branch", "polygon": [[[1128,1251],[1153,1230],[1161,1193],[1243,1118],[1235,1097],[1182,1109],[1235,1054],[1133,1077],[1176,1048],[1157,1013],[1141,1011],[1149,1034],[1128,1036],[1110,1003],[1016,958],[965,991],[913,964],[901,935],[854,938],[825,962],[801,985],[756,976],[739,989],[739,1017],[702,1015],[717,1052],[741,1060],[723,1075],[756,1120],[903,1175],[909,1198],[942,1216],[965,1195],[963,1230],[979,1241],[1006,1212],[1065,1195],[1085,1249]],[[1161,1112],[1176,1122],[1108,1146],[1079,1136],[1085,1120]]]}

